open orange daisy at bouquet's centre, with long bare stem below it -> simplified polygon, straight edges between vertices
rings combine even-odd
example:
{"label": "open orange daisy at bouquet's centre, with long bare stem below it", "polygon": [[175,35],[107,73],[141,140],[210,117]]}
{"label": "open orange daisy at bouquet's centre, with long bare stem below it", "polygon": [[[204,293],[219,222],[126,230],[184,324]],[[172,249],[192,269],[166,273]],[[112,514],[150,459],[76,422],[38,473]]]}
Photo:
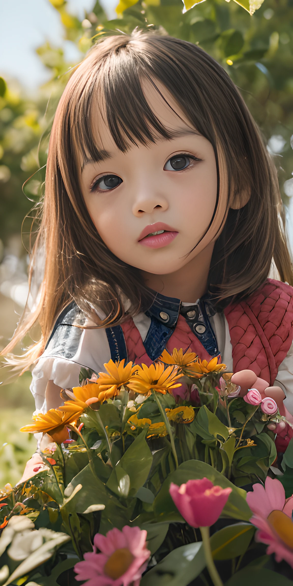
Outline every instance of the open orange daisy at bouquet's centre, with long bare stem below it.
{"label": "open orange daisy at bouquet's centre, with long bare stem below it", "polygon": [[166,391],[170,393],[170,389],[180,387],[180,383],[176,383],[181,376],[178,373],[177,366],[165,367],[162,362],[151,364],[147,366],[142,364],[137,366],[137,374],[131,377],[128,383],[128,388],[135,393],[146,395],[151,389],[158,393],[166,394]]}

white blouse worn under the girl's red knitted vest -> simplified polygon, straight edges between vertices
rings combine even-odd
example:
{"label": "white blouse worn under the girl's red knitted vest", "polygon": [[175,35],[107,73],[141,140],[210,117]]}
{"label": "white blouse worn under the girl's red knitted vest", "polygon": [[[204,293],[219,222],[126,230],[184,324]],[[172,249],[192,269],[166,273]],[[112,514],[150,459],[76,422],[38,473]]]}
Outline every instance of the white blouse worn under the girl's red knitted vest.
{"label": "white blouse worn under the girl's red knitted vest", "polygon": [[[182,305],[194,304],[182,303]],[[223,313],[215,314],[209,319],[216,335],[222,362],[227,365],[228,372],[231,372],[233,370],[233,359],[227,320]],[[135,316],[133,321],[144,342],[151,325],[151,318],[141,313]],[[33,379],[30,385],[30,390],[35,397],[36,410],[42,413],[47,411],[45,391],[49,380],[53,380],[62,389],[77,387],[79,386],[81,366],[90,368],[98,373],[104,370],[104,363],[107,363],[110,359],[111,353],[105,329],[84,329],[77,352],[70,360],[52,355],[40,356],[32,371]],[[284,405],[289,413],[293,415],[293,343],[287,356],[279,366],[274,386],[279,386],[284,390],[286,395]]]}

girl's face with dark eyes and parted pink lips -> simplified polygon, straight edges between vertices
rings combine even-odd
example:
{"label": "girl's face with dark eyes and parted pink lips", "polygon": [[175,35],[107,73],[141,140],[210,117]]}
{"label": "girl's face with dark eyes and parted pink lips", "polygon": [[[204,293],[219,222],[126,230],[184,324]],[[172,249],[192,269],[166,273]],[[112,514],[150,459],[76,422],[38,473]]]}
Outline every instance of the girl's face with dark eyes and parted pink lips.
{"label": "girl's face with dark eyes and parted pink lips", "polygon": [[213,234],[196,247],[216,206],[217,169],[212,144],[190,127],[166,89],[156,85],[169,105],[151,83],[144,84],[145,96],[175,138],[158,137],[122,153],[99,116],[97,145],[107,156],[100,162],[82,161],[80,182],[106,246],[132,267],[163,275],[178,271],[210,244]]}

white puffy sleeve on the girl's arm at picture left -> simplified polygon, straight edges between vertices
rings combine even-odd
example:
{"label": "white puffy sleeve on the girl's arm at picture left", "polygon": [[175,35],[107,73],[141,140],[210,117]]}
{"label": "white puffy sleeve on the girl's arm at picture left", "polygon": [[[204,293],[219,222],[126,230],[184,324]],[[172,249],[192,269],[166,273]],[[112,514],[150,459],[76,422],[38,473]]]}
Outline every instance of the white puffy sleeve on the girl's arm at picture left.
{"label": "white puffy sleeve on the girl's arm at picture left", "polygon": [[105,329],[77,328],[64,319],[53,330],[49,343],[32,371],[30,390],[36,410],[46,413],[45,392],[49,380],[62,389],[79,385],[82,366],[98,373],[111,358]]}

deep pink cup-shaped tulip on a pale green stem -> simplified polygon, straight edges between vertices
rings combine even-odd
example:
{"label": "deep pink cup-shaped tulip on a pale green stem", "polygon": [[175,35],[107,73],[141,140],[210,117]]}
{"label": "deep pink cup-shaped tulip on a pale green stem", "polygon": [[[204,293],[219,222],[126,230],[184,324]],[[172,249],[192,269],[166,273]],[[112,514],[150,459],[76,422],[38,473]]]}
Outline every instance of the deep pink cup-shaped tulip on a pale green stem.
{"label": "deep pink cup-shaped tulip on a pale green stem", "polygon": [[210,527],[216,523],[231,490],[214,486],[207,478],[189,480],[181,486],[171,482],[169,488],[179,513],[192,527]]}

